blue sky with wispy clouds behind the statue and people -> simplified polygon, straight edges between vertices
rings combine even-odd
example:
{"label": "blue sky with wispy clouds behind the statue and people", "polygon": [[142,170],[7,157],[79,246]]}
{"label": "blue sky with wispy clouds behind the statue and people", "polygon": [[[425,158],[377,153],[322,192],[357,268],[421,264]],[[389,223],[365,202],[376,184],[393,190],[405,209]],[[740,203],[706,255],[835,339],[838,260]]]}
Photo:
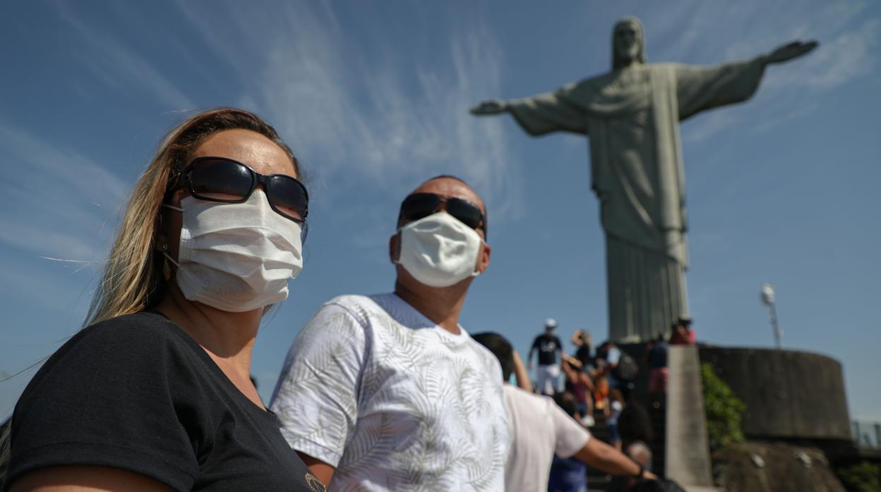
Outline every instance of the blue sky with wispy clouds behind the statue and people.
{"label": "blue sky with wispy clouds behind the statue and people", "polygon": [[[611,26],[642,19],[649,62],[751,58],[794,39],[749,102],[682,125],[687,282],[699,339],[844,364],[851,415],[881,421],[881,4],[715,2],[28,2],[0,6],[0,372],[78,330],[137,174],[183,114],[242,106],[291,143],[313,203],[306,266],[262,328],[268,399],[300,327],[331,297],[391,290],[387,241],[413,187],[454,173],[485,197],[492,265],[462,324],[522,353],[545,318],[606,332],[588,143],[531,138],[481,99],[611,67]],[[571,347],[570,347],[571,348]],[[0,383],[11,413],[32,371]]]}

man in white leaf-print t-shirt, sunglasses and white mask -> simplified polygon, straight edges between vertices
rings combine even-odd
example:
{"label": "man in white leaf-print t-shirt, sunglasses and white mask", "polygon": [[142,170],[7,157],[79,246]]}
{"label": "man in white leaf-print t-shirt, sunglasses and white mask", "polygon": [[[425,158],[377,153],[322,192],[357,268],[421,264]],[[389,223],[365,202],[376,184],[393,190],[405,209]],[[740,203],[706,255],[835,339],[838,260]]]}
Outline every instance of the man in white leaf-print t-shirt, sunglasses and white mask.
{"label": "man in white leaf-print t-shirt, sunglasses and white mask", "polygon": [[330,490],[504,488],[500,365],[458,323],[486,225],[464,181],[427,180],[389,240],[395,292],[334,298],[293,342],[270,408]]}

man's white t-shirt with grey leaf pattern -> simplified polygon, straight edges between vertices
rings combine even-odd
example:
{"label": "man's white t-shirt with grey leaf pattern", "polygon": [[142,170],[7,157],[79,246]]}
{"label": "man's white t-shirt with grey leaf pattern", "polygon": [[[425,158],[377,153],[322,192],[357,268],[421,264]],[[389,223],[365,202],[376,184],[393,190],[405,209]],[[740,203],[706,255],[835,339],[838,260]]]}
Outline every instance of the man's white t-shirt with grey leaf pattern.
{"label": "man's white t-shirt with grey leaf pattern", "polygon": [[337,297],[294,341],[271,406],[335,490],[501,490],[510,437],[495,357],[393,294]]}

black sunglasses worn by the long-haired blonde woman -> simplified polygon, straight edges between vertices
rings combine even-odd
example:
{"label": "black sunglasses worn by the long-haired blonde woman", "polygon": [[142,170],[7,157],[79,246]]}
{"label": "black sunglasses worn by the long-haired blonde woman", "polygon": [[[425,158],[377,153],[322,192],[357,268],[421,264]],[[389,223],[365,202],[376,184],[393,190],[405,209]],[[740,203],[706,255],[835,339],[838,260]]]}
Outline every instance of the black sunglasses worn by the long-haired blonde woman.
{"label": "black sunglasses worn by the long-haired blonde woman", "polygon": [[309,194],[303,183],[291,176],[266,176],[233,159],[212,157],[193,159],[181,176],[181,183],[169,191],[186,187],[193,197],[208,202],[247,202],[257,185],[263,183],[270,207],[305,229]]}

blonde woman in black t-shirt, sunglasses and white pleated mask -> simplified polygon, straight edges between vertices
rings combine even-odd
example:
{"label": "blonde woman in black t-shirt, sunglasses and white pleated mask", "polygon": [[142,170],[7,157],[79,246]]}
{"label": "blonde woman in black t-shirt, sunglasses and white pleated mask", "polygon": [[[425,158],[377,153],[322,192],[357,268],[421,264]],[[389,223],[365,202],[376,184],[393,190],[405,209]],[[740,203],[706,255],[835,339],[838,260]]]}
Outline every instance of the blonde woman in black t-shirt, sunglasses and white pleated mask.
{"label": "blonde woman in black t-shirt, sunglasses and white pleated mask", "polygon": [[306,188],[254,114],[222,108],[160,145],[82,331],[11,420],[3,490],[322,490],[248,378],[268,305],[302,268]]}

